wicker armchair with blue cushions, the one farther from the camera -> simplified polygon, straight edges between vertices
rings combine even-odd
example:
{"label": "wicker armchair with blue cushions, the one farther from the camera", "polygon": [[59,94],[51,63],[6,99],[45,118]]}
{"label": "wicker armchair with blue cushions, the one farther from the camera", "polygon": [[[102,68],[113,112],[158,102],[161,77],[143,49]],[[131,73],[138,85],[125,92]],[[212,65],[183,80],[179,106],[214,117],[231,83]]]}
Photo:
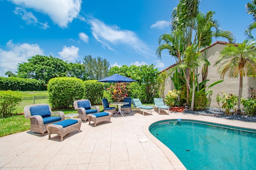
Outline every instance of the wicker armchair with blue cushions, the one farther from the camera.
{"label": "wicker armchair with blue cushions, the one farther from the camera", "polygon": [[[94,109],[92,109],[94,107]],[[90,100],[76,100],[74,101],[74,108],[78,112],[78,118],[86,121],[88,119],[87,115],[90,113],[99,113],[99,106],[91,106]]]}

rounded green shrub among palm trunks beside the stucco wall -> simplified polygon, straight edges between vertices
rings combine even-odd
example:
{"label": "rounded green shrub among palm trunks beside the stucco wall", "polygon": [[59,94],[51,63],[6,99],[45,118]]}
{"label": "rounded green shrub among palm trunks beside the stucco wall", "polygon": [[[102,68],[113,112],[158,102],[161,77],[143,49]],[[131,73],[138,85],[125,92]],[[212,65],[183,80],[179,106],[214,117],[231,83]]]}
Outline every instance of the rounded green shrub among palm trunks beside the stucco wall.
{"label": "rounded green shrub among palm trunks beside the stucco wall", "polygon": [[[189,102],[192,100],[192,92],[189,94]],[[204,110],[207,107],[208,99],[204,91],[195,91],[194,110]]]}

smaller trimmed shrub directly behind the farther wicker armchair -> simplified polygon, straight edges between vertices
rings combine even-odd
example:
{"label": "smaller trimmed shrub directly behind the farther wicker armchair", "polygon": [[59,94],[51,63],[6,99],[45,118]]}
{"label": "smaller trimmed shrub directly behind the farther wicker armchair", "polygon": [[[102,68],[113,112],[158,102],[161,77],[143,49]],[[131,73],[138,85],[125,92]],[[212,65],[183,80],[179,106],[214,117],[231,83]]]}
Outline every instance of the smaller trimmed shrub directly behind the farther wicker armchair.
{"label": "smaller trimmed shrub directly behind the farther wicker armchair", "polygon": [[101,104],[103,92],[105,90],[104,83],[98,80],[84,81],[84,99],[88,99],[91,105]]}

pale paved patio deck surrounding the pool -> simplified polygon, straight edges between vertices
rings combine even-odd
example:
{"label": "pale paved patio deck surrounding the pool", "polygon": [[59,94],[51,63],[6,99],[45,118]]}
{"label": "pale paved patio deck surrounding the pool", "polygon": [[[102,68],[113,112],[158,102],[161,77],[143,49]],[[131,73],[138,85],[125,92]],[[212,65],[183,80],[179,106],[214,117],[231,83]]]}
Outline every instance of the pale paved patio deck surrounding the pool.
{"label": "pale paved patio deck surrounding the pool", "polygon": [[[157,111],[157,110],[156,110]],[[58,135],[35,136],[25,131],[0,138],[0,169],[36,170],[184,170],[178,158],[154,138],[148,127],[163,119],[195,119],[256,129],[256,123],[193,115],[188,113],[133,110],[125,117],[116,115],[111,123],[94,127],[82,123],[60,142]],[[24,118],[25,119],[25,118]],[[139,139],[148,139],[140,143]]]}

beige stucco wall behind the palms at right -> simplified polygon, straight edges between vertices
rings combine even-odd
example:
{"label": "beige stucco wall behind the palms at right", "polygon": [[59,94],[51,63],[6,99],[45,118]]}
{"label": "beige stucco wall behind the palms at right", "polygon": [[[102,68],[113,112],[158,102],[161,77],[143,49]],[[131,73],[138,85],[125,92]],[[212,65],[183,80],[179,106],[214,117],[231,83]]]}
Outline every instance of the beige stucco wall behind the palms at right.
{"label": "beige stucco wall behind the palms at right", "polygon": [[[221,80],[220,74],[218,73],[218,67],[214,66],[214,63],[218,60],[218,57],[220,56],[220,51],[225,47],[226,45],[224,44],[219,44],[216,43],[215,45],[211,46],[208,49],[208,61],[211,63],[211,65],[208,67],[208,81],[206,83],[206,86],[209,86],[210,84]],[[198,68],[198,73],[201,73],[202,69]],[[200,74],[200,82],[202,81],[202,74]],[[174,90],[174,85],[172,83],[172,80],[170,77],[166,80],[165,84],[165,95],[168,94],[169,90]],[[249,97],[249,92],[248,89],[250,87],[254,87],[256,89],[256,78],[252,77],[244,77],[243,78],[243,91],[242,91],[242,97],[247,98]],[[212,86],[209,88],[209,90],[212,90],[212,94],[208,96],[208,102],[209,102],[209,107],[217,107],[217,102],[216,102],[216,96],[217,94],[221,94],[222,91],[224,91],[226,94],[236,94],[238,95],[239,91],[239,78],[229,78],[228,73],[224,76],[224,81]]]}

